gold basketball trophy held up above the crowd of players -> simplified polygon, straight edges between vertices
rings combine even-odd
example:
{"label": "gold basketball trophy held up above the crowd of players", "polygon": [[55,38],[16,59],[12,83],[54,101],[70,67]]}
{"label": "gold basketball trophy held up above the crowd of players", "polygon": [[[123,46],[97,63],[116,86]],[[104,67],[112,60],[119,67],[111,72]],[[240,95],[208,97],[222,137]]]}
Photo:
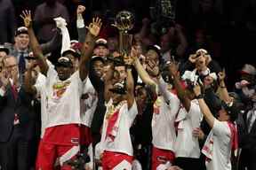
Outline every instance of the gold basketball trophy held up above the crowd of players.
{"label": "gold basketball trophy held up above the crowd of players", "polygon": [[128,56],[132,50],[132,35],[128,31],[134,26],[134,15],[132,12],[118,12],[115,20],[115,27],[119,30],[119,52],[124,56]]}

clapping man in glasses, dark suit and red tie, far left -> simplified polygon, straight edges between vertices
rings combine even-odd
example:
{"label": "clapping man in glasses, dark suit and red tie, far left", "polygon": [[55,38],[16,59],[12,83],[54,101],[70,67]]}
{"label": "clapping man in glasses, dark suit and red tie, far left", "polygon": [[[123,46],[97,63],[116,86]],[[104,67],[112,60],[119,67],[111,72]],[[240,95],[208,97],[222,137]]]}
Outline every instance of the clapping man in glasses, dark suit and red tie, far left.
{"label": "clapping man in glasses, dark suit and red tie, far left", "polygon": [[28,170],[29,141],[34,135],[32,97],[19,81],[16,58],[3,60],[0,88],[0,165],[3,170]]}

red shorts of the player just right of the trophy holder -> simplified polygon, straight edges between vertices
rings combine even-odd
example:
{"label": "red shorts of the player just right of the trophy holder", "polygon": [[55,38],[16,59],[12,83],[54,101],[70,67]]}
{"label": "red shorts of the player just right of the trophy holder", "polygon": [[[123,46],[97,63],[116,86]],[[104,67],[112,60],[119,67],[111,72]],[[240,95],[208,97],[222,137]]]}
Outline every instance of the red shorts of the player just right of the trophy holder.
{"label": "red shorts of the player just right of the trophy holder", "polygon": [[151,170],[156,170],[157,166],[166,164],[168,161],[174,163],[175,154],[173,151],[161,150],[156,147],[152,147],[152,167]]}

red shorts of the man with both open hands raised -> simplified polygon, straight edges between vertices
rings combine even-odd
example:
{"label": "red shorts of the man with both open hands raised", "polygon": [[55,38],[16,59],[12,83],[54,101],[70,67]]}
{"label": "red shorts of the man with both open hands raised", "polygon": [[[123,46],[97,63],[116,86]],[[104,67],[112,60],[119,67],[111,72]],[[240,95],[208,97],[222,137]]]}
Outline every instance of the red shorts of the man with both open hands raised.
{"label": "red shorts of the man with both open hands raised", "polygon": [[75,158],[79,152],[79,130],[77,124],[46,128],[38,147],[36,170],[54,169],[54,165],[58,163],[57,158],[60,160],[61,169],[71,169],[71,166],[62,164]]}

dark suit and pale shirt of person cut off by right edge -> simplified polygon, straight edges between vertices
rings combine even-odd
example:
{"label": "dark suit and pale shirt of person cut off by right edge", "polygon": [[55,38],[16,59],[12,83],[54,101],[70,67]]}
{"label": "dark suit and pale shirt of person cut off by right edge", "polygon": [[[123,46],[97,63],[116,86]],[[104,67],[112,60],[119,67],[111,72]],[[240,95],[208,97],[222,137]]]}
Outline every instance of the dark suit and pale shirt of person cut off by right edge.
{"label": "dark suit and pale shirt of person cut off by right edge", "polygon": [[[254,94],[256,98],[256,94]],[[237,123],[238,133],[239,133],[239,147],[242,149],[240,160],[239,160],[239,170],[256,169],[256,103],[252,104],[249,111],[245,112],[243,115],[244,122]]]}

